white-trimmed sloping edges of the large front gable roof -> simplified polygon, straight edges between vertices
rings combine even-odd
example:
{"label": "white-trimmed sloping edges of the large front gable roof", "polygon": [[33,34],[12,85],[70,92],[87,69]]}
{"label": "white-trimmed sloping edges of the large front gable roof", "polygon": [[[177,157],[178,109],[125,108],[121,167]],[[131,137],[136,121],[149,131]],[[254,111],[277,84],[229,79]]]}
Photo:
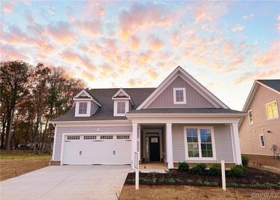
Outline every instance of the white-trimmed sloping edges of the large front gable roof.
{"label": "white-trimmed sloping edges of the large front gable roof", "polygon": [[192,87],[194,87],[195,90],[197,90],[197,92],[200,92],[200,94],[205,99],[210,101],[217,108],[229,108],[225,105],[225,103],[223,103],[214,94],[207,90],[207,88],[205,88],[201,83],[195,80],[193,76],[190,76],[189,73],[183,70],[181,66],[177,66],[177,68],[157,87],[157,89],[155,89],[155,91],[152,94],[150,94],[150,96],[143,103],[141,103],[137,110],[140,110],[141,108],[147,108],[152,103],[152,101],[155,100],[156,97],[158,97],[161,94],[161,92],[164,91],[167,88],[167,86],[170,85],[172,81],[178,76],[180,76],[184,80],[186,80],[187,78],[189,81],[186,80],[186,82]]}

